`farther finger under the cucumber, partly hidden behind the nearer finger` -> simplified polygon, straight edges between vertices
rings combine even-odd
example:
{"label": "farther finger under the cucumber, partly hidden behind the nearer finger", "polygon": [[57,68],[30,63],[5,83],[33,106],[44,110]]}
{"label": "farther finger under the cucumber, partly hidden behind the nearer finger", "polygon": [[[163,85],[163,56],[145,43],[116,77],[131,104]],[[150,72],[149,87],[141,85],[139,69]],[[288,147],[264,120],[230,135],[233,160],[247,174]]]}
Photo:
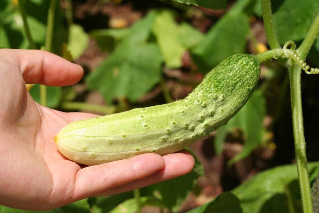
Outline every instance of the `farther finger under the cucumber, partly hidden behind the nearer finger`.
{"label": "farther finger under the cucumber, partly hidden behind the nearer finger", "polygon": [[152,175],[144,179],[138,179],[126,185],[110,189],[107,192],[103,192],[96,196],[100,197],[112,194],[119,194],[138,188],[143,188],[145,186],[149,186],[165,180],[173,179],[189,173],[190,171],[192,171],[195,165],[194,157],[187,151],[181,151],[179,153],[169,154],[162,157],[165,161],[165,167],[163,169],[153,173]]}

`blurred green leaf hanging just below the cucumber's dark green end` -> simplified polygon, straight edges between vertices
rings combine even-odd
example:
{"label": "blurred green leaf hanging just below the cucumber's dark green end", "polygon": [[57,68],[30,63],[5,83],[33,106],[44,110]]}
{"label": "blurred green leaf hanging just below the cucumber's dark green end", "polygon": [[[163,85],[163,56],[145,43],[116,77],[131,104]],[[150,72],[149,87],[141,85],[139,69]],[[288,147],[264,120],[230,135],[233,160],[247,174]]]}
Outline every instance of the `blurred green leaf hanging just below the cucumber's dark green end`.
{"label": "blurred green leaf hanging just below the cucumber's dark green end", "polygon": [[226,133],[234,128],[241,128],[244,134],[244,149],[229,161],[233,164],[248,156],[250,152],[262,143],[263,117],[266,106],[265,98],[260,90],[256,90],[241,110],[231,118],[225,127],[217,131],[215,137],[216,153],[221,152],[221,144],[226,138]]}

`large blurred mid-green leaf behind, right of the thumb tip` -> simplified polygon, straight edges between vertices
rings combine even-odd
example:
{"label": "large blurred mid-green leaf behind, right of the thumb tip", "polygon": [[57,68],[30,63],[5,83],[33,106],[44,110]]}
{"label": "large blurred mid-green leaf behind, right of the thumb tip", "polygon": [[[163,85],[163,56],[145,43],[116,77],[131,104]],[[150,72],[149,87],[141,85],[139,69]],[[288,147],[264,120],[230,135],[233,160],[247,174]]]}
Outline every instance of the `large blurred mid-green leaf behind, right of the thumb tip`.
{"label": "large blurred mid-green leaf behind, right of the thumb tip", "polygon": [[162,57],[156,44],[147,43],[155,13],[137,21],[114,52],[86,78],[90,89],[98,89],[110,103],[125,96],[135,102],[161,78]]}

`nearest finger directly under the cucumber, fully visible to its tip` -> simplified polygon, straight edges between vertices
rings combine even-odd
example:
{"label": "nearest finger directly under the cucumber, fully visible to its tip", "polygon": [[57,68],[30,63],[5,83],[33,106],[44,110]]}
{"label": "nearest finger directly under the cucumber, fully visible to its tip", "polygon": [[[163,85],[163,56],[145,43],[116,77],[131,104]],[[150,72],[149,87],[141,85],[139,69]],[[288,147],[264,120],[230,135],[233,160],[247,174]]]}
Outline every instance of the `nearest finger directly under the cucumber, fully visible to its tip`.
{"label": "nearest finger directly under the cucumber, fully visible to its tip", "polygon": [[165,162],[161,156],[148,153],[107,164],[85,167],[76,173],[72,200],[92,197],[110,188],[143,179],[162,169],[164,165]]}

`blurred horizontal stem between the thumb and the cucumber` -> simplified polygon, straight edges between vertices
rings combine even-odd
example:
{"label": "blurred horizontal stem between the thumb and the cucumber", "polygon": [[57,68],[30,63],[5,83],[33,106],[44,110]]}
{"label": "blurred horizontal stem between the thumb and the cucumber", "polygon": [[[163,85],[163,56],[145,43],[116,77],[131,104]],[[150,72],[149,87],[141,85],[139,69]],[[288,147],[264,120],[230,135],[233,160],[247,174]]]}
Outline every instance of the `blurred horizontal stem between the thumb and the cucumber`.
{"label": "blurred horizontal stem between the thumb and the cucumber", "polygon": [[114,113],[117,109],[114,106],[101,106],[92,103],[83,102],[62,102],[60,108],[64,110],[85,110],[94,111],[100,114],[108,115]]}

